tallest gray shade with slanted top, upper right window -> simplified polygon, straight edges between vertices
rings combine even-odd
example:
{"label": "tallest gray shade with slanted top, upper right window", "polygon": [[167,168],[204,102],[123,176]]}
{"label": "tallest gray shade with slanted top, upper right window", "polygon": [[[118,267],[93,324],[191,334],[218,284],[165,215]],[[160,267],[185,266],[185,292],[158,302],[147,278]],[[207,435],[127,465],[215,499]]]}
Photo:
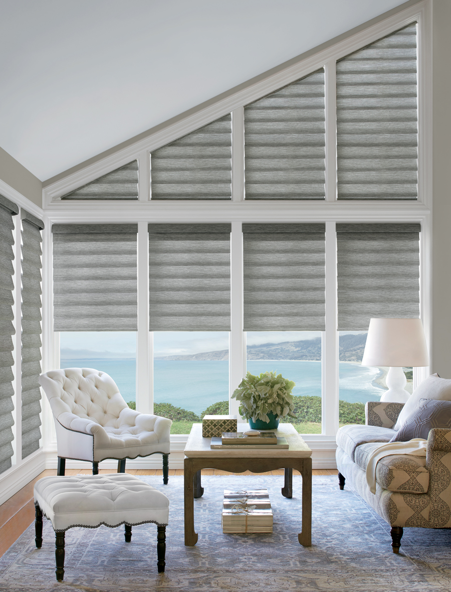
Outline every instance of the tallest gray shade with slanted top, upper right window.
{"label": "tallest gray shade with slanted top, upper right window", "polygon": [[417,199],[417,25],[337,62],[339,200]]}

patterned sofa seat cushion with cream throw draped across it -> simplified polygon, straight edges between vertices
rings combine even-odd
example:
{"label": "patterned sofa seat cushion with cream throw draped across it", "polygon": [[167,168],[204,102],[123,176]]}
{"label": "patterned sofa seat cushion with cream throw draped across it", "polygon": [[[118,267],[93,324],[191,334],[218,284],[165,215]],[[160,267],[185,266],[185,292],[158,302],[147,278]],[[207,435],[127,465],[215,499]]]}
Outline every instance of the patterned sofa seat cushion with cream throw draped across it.
{"label": "patterned sofa seat cushion with cream throw draped across it", "polygon": [[[359,446],[355,451],[355,464],[366,471],[368,459],[378,446],[378,442]],[[385,456],[376,465],[376,481],[388,491],[426,493],[429,488],[426,456],[408,454]]]}

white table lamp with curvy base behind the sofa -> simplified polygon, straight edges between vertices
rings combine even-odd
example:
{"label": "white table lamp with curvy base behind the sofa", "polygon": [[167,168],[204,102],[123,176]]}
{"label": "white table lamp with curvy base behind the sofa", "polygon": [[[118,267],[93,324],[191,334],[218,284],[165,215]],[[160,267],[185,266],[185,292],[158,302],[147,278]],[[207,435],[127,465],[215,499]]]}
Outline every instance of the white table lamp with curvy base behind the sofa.
{"label": "white table lamp with curvy base behind the sofa", "polygon": [[429,366],[426,339],[420,318],[372,318],[362,366],[390,366],[381,401],[405,403],[410,393],[405,390],[403,366]]}

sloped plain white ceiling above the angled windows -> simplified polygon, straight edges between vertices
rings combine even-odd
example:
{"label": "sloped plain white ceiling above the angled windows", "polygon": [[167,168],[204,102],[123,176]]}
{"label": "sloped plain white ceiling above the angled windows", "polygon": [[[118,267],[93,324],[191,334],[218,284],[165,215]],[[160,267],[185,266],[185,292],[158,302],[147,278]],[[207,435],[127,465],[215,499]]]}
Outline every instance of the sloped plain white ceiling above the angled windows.
{"label": "sloped plain white ceiling above the angled windows", "polygon": [[0,0],[0,146],[39,179],[403,0]]}

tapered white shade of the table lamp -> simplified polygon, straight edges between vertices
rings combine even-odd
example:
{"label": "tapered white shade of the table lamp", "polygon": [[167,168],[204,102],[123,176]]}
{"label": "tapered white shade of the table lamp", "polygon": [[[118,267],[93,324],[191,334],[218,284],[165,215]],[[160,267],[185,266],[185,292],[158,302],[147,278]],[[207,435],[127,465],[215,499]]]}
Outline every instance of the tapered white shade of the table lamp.
{"label": "tapered white shade of the table lamp", "polygon": [[428,366],[420,318],[372,318],[362,366]]}

